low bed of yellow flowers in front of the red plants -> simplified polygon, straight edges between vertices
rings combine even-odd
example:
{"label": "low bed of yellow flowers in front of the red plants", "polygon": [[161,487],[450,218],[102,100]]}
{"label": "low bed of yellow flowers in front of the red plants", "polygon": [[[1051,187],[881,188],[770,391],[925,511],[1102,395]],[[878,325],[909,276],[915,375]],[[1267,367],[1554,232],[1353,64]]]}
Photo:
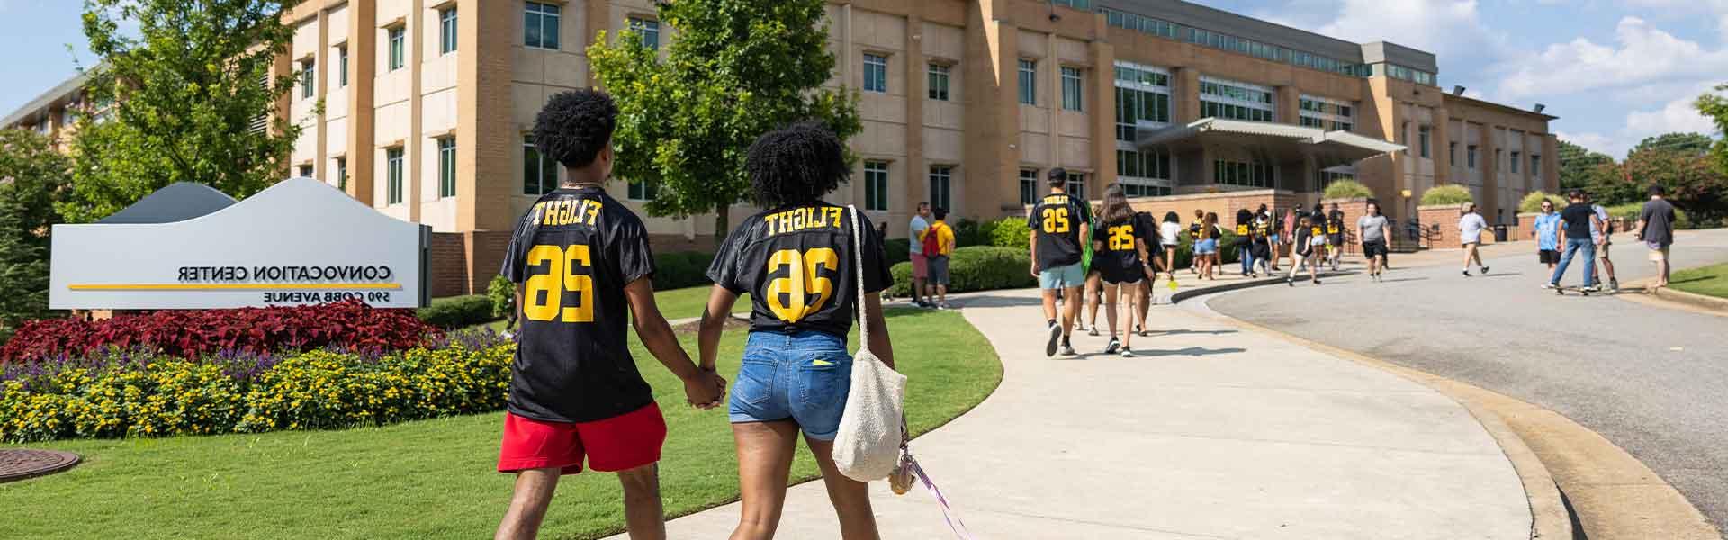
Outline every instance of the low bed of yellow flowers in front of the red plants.
{"label": "low bed of yellow flowers in front of the red plants", "polygon": [[505,407],[515,344],[491,332],[387,357],[314,350],[197,360],[109,351],[9,365],[0,441],[377,426]]}

